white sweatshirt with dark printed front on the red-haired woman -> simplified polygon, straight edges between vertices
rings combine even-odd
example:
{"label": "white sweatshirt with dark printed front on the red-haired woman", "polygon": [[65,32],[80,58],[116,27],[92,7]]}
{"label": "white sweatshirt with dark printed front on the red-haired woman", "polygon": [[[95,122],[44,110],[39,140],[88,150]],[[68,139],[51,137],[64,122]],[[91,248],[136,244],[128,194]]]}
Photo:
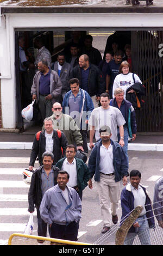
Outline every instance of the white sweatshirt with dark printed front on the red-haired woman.
{"label": "white sweatshirt with dark printed front on the red-haired woman", "polygon": [[[134,74],[135,83],[142,83],[139,76]],[[116,88],[120,87],[124,90],[124,99],[126,100],[126,91],[130,86],[133,86],[133,73],[128,73],[127,75],[119,74],[115,77],[113,87],[112,87],[112,97],[114,98],[114,91]]]}

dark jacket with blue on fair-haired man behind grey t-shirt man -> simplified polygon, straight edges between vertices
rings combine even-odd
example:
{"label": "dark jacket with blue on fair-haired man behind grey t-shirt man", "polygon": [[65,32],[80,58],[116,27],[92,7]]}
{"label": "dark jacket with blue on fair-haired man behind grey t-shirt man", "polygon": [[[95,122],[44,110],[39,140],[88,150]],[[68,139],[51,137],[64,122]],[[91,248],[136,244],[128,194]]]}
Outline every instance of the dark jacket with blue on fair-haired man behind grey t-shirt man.
{"label": "dark jacket with blue on fair-haired man behind grey t-shirt man", "polygon": [[[125,106],[125,121],[128,128],[129,137],[132,138],[133,134],[136,134],[137,131],[137,125],[136,125],[136,115],[135,110],[128,100],[123,100],[124,106]],[[116,99],[112,99],[110,101],[110,106],[117,107]]]}

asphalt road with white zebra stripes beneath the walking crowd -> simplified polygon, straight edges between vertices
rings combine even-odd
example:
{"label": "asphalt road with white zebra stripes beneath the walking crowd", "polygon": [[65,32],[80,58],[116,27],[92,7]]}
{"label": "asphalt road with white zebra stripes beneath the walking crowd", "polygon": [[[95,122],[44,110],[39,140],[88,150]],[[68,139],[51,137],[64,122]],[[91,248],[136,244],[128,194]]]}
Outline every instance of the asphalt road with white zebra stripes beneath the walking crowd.
{"label": "asphalt road with white zebra stripes beneath the walking crowd", "polygon": [[[0,244],[8,242],[12,233],[23,233],[28,222],[29,213],[27,194],[29,187],[24,187],[22,170],[28,167],[30,150],[0,150]],[[35,165],[37,167],[38,164]],[[153,200],[156,179],[162,175],[162,153],[157,151],[129,151],[129,172],[139,169],[142,173],[141,183],[147,186]],[[123,188],[123,185],[122,185]],[[110,235],[102,235],[101,210],[96,188],[86,187],[83,192],[82,219],[79,227],[79,242],[99,245],[114,245],[117,226],[112,224]],[[121,217],[121,206],[118,218]],[[37,235],[37,222],[34,216],[34,235]]]}

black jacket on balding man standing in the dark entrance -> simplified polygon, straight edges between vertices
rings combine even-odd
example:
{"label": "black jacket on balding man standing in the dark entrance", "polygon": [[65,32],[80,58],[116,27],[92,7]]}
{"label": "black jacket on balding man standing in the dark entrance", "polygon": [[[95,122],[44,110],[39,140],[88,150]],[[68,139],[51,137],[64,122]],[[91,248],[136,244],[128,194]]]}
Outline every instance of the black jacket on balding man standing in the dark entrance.
{"label": "black jacket on balding man standing in the dark entrance", "polygon": [[[71,78],[78,78],[79,85],[81,87],[82,82],[82,68],[80,66],[75,66],[73,71],[71,72]],[[96,65],[90,64],[90,71],[89,71],[89,78],[88,78],[88,88],[89,88],[89,95],[90,96],[100,96],[102,93],[105,92],[105,79],[104,75],[102,74],[101,70]]]}

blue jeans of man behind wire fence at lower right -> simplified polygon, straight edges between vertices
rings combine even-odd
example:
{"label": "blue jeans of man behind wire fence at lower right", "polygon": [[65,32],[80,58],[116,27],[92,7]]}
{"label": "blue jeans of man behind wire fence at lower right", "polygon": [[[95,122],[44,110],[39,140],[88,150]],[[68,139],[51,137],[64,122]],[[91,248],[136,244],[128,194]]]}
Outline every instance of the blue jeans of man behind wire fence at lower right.
{"label": "blue jeans of man behind wire fence at lower right", "polygon": [[135,222],[139,222],[140,227],[135,228],[135,233],[128,232],[126,239],[124,240],[124,245],[133,245],[136,235],[139,236],[141,245],[151,245],[149,225],[146,215],[137,218]]}

